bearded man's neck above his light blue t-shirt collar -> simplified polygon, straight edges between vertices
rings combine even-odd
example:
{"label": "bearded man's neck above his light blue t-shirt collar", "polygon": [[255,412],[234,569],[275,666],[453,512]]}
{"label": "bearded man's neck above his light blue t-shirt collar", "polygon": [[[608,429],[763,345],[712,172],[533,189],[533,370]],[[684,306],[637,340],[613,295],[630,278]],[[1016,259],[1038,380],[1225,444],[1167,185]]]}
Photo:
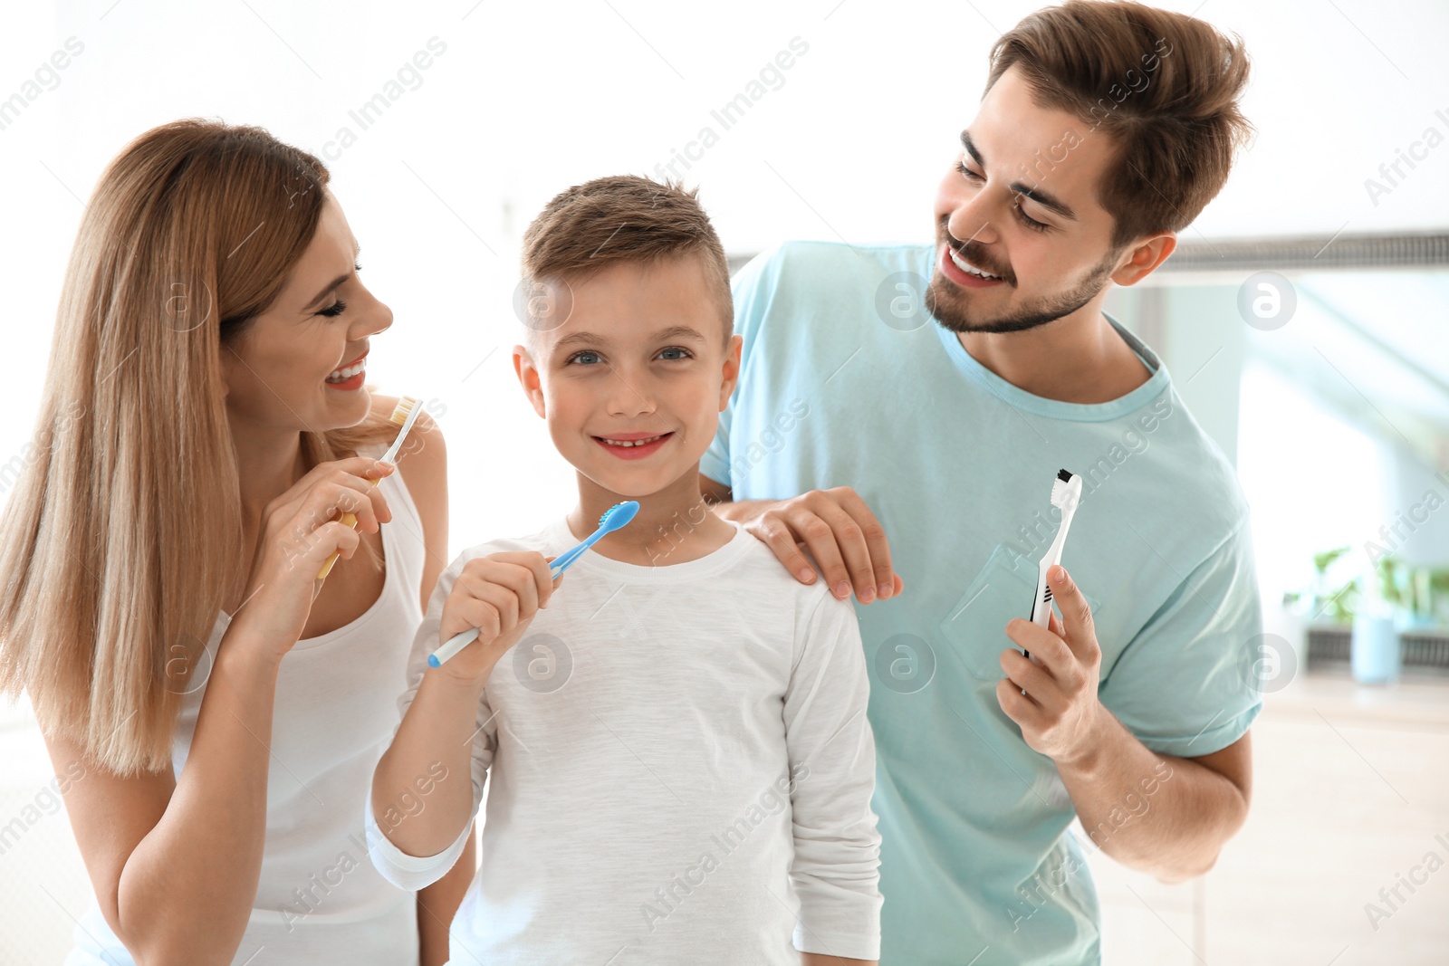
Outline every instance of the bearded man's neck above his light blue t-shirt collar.
{"label": "bearded man's neck above his light blue t-shirt collar", "polygon": [[1061,403],[1108,403],[1152,377],[1107,322],[1100,298],[1026,332],[961,332],[956,339],[1011,385]]}

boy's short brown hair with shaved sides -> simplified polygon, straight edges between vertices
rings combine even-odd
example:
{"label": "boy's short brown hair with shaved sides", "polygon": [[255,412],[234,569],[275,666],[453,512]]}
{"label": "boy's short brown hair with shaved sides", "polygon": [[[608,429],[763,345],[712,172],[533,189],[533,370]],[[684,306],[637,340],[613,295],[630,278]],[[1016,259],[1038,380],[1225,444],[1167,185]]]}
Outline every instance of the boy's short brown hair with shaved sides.
{"label": "boy's short brown hair with shaved sides", "polygon": [[[735,330],[729,262],[698,188],[677,181],[659,184],[638,175],[614,175],[575,184],[554,196],[523,233],[523,278],[556,284],[587,278],[619,262],[652,264],[698,258],[719,303],[727,343]],[[538,327],[525,320],[530,332]]]}

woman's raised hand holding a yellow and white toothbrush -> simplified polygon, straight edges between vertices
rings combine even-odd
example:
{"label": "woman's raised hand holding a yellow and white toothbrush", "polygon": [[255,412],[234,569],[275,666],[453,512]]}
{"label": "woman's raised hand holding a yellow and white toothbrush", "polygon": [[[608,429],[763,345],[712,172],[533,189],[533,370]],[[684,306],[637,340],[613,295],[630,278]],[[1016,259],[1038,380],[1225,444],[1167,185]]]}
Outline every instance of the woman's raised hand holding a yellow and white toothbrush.
{"label": "woman's raised hand holding a yellow and white toothbrush", "polygon": [[[233,616],[251,630],[248,640],[267,642],[283,658],[301,637],[312,601],[322,589],[317,572],[336,550],[352,559],[362,533],[377,533],[393,518],[387,498],[372,485],[394,471],[369,456],[313,466],[262,511],[251,575]],[[356,529],[342,523],[351,511]]]}

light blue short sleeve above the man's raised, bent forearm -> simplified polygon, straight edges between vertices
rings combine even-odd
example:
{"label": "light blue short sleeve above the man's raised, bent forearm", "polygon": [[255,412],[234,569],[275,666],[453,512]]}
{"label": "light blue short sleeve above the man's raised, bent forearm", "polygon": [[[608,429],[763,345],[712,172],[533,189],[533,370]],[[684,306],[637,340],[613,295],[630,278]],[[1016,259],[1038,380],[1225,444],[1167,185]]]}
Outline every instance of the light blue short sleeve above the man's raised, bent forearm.
{"label": "light blue short sleeve above the man's raised, bent forearm", "polygon": [[1245,517],[1123,649],[1100,698],[1153,752],[1211,755],[1240,739],[1262,710],[1253,676],[1261,634]]}

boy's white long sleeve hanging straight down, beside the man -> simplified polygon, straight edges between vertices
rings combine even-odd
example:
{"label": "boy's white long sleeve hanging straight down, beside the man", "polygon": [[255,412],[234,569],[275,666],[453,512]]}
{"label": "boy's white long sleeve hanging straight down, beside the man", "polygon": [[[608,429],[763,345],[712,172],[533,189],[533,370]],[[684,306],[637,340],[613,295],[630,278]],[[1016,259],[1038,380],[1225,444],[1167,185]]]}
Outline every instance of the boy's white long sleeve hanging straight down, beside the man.
{"label": "boy's white long sleeve hanging straight down, beside the man", "polygon": [[796,847],[790,878],[800,899],[794,944],[803,953],[878,959],[881,836],[871,811],[869,679],[855,608],[826,592],[816,601],[797,618],[798,659],[784,708]]}

